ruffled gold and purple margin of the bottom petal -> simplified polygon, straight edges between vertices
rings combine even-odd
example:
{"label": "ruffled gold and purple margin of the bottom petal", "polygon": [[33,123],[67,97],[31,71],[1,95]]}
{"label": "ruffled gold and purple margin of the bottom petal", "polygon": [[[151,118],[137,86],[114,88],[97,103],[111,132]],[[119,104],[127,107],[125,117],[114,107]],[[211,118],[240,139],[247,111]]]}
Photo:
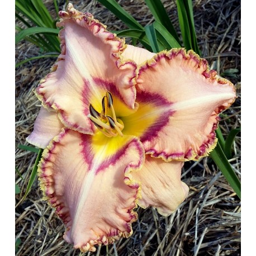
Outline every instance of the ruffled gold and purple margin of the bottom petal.
{"label": "ruffled gold and purple margin of the bottom petal", "polygon": [[[130,151],[126,152],[126,150],[132,150],[133,154],[136,155],[136,157],[134,155],[134,159],[135,159],[135,160],[133,160],[134,162],[128,164],[124,170],[124,183],[126,184],[127,187],[130,188],[129,191],[135,191],[135,195],[134,195],[134,192],[132,192],[132,195],[134,195],[134,196],[132,196],[132,198],[133,198],[132,203],[126,212],[126,215],[130,216],[129,220],[125,219],[124,222],[126,222],[126,223],[122,224],[122,225],[124,225],[122,228],[125,229],[126,231],[115,230],[115,226],[113,226],[113,229],[111,228],[112,231],[110,231],[109,234],[101,234],[97,237],[95,236],[93,239],[89,239],[88,241],[84,241],[83,243],[81,243],[81,241],[80,241],[82,234],[79,233],[79,234],[74,235],[74,236],[80,237],[78,239],[79,241],[75,242],[72,240],[73,236],[70,233],[72,231],[72,225],[74,225],[75,220],[74,219],[72,220],[72,217],[70,215],[69,204],[67,205],[67,202],[65,203],[65,201],[67,201],[67,197],[60,196],[61,189],[59,187],[60,186],[59,183],[61,183],[61,180],[59,179],[59,176],[57,176],[57,178],[56,178],[56,174],[54,174],[54,172],[56,172],[56,170],[53,170],[54,169],[53,164],[56,163],[56,158],[58,157],[58,155],[56,155],[56,154],[58,154],[60,151],[59,145],[62,145],[63,143],[65,143],[63,141],[65,139],[65,136],[67,136],[68,134],[74,134],[75,136],[78,136],[78,137],[80,136],[78,132],[75,132],[75,131],[72,131],[69,129],[62,129],[60,134],[58,136],[55,136],[55,138],[51,141],[50,145],[42,153],[42,158],[38,165],[38,170],[37,170],[39,181],[40,181],[40,188],[44,195],[44,197],[42,199],[48,201],[48,204],[55,209],[55,214],[64,222],[65,227],[66,227],[65,233],[64,233],[64,239],[66,241],[68,241],[68,243],[75,243],[74,248],[80,249],[81,252],[87,252],[88,250],[91,252],[95,252],[96,248],[94,245],[112,244],[114,241],[120,239],[121,237],[128,238],[130,235],[132,235],[131,224],[132,224],[132,222],[136,221],[137,217],[138,217],[137,213],[134,211],[134,209],[136,207],[138,207],[137,203],[138,203],[138,200],[141,198],[141,193],[140,193],[140,184],[139,184],[139,182],[137,182],[131,178],[131,172],[136,172],[137,170],[141,169],[141,167],[144,164],[145,153],[144,153],[143,145],[140,143],[140,141],[138,139],[135,139],[135,138],[132,139],[130,141],[130,143],[127,145],[127,149],[123,149],[124,151],[121,150],[121,153],[120,153],[120,151],[117,152],[118,159],[120,159],[120,157],[122,155],[123,155],[123,157],[127,158],[127,156],[125,156],[125,155],[128,154],[127,152],[129,152],[129,154],[131,152]],[[89,136],[89,135],[82,135],[82,136]],[[82,144],[80,144],[80,145],[82,145]],[[129,147],[129,149],[128,149],[128,147]],[[134,149],[136,149],[136,150],[134,150]],[[118,161],[118,159],[112,159],[112,160],[114,160],[114,162],[115,162],[115,161]],[[124,159],[122,161],[124,161]],[[112,163],[113,166],[115,165],[114,162]],[[101,165],[102,166],[106,165],[106,163],[103,162]],[[102,166],[100,168],[103,168]],[[98,172],[105,172],[105,170],[100,169],[100,170],[98,170]],[[107,170],[107,173],[108,173],[108,170]],[[109,173],[108,173],[108,175],[109,175]],[[63,179],[64,179],[64,177],[63,177]],[[109,186],[111,186],[111,184]],[[117,187],[115,187],[115,189],[117,189]],[[58,191],[58,192],[56,192],[56,191]],[[114,192],[115,195],[117,195],[117,192],[118,191]],[[121,193],[121,192],[122,191],[119,191],[118,193]],[[72,192],[69,191],[69,193],[72,193]],[[125,193],[125,191],[123,193]],[[109,195],[109,196],[111,196],[111,195]],[[75,198],[74,198],[74,200],[75,200]],[[129,200],[129,202],[131,202],[131,199]],[[107,202],[105,202],[105,203],[107,203]],[[121,203],[122,203],[122,205],[125,205],[126,202],[121,202]],[[121,206],[121,208],[122,207],[123,206]],[[97,212],[96,212],[96,214],[97,214]],[[106,212],[106,214],[112,215],[111,212],[109,212],[109,213]],[[103,220],[103,222],[104,222],[104,220]],[[99,223],[99,225],[100,225],[100,223],[102,223],[102,220],[98,220],[97,223]],[[116,225],[118,225],[118,224],[116,224]],[[94,232],[94,234],[97,233],[96,231],[93,231],[93,232]],[[86,235],[88,235],[88,234],[86,233]]]}

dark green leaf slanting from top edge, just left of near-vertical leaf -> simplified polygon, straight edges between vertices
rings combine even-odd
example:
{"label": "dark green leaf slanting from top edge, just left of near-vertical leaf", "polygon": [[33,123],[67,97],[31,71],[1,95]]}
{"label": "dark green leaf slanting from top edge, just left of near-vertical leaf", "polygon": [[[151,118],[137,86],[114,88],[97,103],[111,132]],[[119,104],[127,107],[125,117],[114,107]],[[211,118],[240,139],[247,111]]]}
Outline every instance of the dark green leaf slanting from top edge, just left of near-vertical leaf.
{"label": "dark green leaf slanting from top edge, just left of near-vertical leaf", "polygon": [[181,44],[176,30],[174,29],[173,24],[170,21],[169,16],[163,6],[163,3],[160,0],[145,0],[145,2],[155,17],[155,20],[164,26],[165,29],[167,29],[167,31],[174,37],[178,44]]}

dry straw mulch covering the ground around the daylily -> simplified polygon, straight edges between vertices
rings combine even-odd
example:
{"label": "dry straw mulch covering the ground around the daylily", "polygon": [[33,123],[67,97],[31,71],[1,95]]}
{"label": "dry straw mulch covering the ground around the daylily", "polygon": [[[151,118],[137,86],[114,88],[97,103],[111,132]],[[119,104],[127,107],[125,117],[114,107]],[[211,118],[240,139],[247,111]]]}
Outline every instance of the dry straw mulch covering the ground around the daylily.
{"label": "dry straw mulch covering the ground around the daylily", "polygon": [[[64,1],[60,8],[64,6]],[[153,21],[143,0],[118,1],[141,24]],[[54,15],[52,1],[45,1]],[[178,27],[175,1],[163,1],[174,26]],[[89,11],[110,30],[122,25],[97,1],[73,1],[78,10]],[[195,26],[202,57],[210,67],[230,79],[238,98],[233,107],[221,114],[220,127],[225,135],[240,126],[240,1],[193,1]],[[180,35],[180,32],[179,32]],[[22,41],[16,46],[16,61],[39,54],[39,49]],[[16,146],[25,144],[33,129],[40,102],[33,91],[46,75],[54,59],[31,61],[16,69]],[[237,69],[237,70],[234,70]],[[240,135],[239,135],[240,136]],[[230,159],[240,177],[240,137],[234,141],[234,157]],[[96,253],[80,253],[63,240],[64,226],[45,201],[37,180],[25,201],[21,201],[36,159],[36,154],[16,147],[16,238],[21,239],[16,255],[240,255],[240,200],[210,158],[184,165],[182,180],[189,195],[174,214],[163,217],[154,208],[138,208],[138,221],[129,239],[99,247]]]}

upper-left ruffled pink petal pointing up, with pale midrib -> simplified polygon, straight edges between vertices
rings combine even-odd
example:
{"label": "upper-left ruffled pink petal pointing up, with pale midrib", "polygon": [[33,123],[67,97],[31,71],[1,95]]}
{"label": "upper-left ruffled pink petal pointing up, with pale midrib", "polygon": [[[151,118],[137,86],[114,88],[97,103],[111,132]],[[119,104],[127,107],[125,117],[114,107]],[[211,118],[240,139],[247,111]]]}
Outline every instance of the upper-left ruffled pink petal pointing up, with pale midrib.
{"label": "upper-left ruffled pink petal pointing up, with pale midrib", "polygon": [[61,122],[70,129],[93,134],[87,117],[90,103],[101,102],[106,91],[118,94],[134,108],[136,64],[122,61],[125,41],[106,30],[91,13],[81,13],[72,4],[59,13],[61,54],[51,73],[41,80],[37,97],[60,112]]}

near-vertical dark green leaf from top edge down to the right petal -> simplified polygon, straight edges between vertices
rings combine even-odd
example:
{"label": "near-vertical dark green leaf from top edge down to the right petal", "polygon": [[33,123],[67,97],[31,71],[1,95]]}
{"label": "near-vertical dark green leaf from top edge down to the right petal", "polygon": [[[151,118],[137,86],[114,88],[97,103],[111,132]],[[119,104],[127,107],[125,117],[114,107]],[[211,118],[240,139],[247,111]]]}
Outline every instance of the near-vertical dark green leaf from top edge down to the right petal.
{"label": "near-vertical dark green leaf from top edge down to the right petal", "polygon": [[200,55],[198,49],[195,24],[193,18],[192,1],[191,0],[177,0],[179,27],[183,38],[183,44],[187,50],[192,49]]}

